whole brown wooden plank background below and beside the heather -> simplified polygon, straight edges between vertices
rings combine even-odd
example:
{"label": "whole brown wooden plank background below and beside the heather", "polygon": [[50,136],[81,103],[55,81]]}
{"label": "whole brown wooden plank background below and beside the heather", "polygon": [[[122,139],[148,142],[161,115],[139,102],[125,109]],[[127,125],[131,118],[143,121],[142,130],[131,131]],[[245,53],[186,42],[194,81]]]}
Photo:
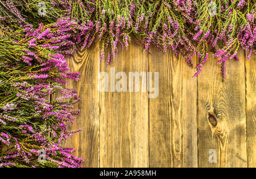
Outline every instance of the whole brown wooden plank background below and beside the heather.
{"label": "whole brown wooden plank background below and beside the heather", "polygon": [[[117,72],[159,72],[159,96],[147,92],[99,92],[100,45],[76,53],[68,82],[82,102],[70,129],[82,129],[65,147],[85,159],[83,167],[256,167],[256,59],[229,60],[222,83],[217,59],[209,58],[197,78],[182,56],[138,46],[118,53]],[[196,64],[196,58],[193,59]],[[210,163],[210,150],[217,162]]]}

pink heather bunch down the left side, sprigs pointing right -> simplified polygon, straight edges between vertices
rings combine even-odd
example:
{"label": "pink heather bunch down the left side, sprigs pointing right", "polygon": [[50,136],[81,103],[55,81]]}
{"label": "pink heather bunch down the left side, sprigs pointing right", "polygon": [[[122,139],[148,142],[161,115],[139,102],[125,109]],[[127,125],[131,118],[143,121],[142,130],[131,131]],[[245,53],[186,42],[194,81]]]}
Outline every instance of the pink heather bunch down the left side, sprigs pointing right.
{"label": "pink heather bunch down the left side, sprigs pointing right", "polygon": [[[0,156],[1,167],[80,167],[83,161],[58,146],[79,132],[68,131],[68,123],[79,114],[73,104],[80,101],[75,90],[61,87],[79,74],[69,72],[60,54],[68,44],[58,29],[23,27],[0,40],[0,142],[10,146]],[[49,101],[55,92],[62,96]],[[44,165],[37,161],[40,149],[47,152]]]}

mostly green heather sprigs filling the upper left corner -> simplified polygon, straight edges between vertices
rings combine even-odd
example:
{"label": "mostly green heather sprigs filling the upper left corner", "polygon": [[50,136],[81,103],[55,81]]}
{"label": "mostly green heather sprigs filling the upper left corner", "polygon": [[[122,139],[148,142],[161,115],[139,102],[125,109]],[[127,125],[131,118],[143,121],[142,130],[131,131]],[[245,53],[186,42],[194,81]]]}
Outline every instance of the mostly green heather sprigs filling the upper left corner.
{"label": "mostly green heather sprigs filling the upper left corner", "polygon": [[[38,13],[44,3],[45,13]],[[57,6],[58,5],[58,6]],[[67,13],[58,0],[6,0],[0,2],[1,28],[15,28],[17,24],[53,23]]]}

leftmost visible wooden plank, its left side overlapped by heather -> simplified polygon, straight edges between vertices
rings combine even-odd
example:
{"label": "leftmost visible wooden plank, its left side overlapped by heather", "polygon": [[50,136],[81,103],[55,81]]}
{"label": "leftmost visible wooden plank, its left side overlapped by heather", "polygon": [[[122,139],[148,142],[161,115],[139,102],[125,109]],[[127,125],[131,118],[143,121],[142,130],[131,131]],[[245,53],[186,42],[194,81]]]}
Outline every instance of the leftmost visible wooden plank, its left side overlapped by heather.
{"label": "leftmost visible wooden plank, its left side overlapped by heather", "polygon": [[75,148],[73,155],[85,160],[82,167],[96,168],[99,150],[99,109],[100,100],[97,88],[98,73],[100,69],[99,44],[84,52],[77,52],[68,65],[70,71],[80,73],[79,82],[68,80],[67,87],[77,90],[81,102],[75,105],[81,110],[80,116],[69,126],[69,130],[81,129],[79,134],[74,134],[64,142],[65,147]]}

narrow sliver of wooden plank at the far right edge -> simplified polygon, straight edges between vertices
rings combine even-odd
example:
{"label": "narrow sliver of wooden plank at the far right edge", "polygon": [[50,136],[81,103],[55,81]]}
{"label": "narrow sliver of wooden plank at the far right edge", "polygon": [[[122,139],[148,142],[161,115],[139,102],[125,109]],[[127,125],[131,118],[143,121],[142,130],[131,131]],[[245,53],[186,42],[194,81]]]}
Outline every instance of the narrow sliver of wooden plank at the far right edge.
{"label": "narrow sliver of wooden plank at the far right edge", "polygon": [[247,160],[248,167],[256,167],[256,55],[246,60]]}

